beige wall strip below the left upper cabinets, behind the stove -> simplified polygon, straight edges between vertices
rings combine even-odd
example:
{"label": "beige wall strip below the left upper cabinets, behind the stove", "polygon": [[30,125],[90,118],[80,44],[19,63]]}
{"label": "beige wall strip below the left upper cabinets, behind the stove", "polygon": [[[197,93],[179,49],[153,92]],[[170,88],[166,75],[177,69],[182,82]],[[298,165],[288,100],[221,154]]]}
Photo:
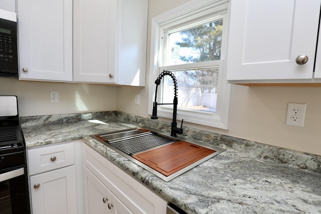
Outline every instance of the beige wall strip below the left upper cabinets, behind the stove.
{"label": "beige wall strip below the left upper cabinets, behind the stove", "polygon": [[[59,103],[50,103],[50,91]],[[17,95],[20,116],[116,110],[116,87],[0,78],[0,95]]]}

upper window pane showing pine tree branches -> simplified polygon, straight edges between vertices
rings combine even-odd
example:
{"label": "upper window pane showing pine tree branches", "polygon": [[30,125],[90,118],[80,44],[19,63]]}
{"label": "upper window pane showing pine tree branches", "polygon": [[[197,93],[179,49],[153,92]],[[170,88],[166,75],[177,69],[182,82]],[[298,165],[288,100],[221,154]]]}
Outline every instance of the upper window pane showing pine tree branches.
{"label": "upper window pane showing pine tree branches", "polygon": [[221,59],[223,20],[169,34],[166,65]]}

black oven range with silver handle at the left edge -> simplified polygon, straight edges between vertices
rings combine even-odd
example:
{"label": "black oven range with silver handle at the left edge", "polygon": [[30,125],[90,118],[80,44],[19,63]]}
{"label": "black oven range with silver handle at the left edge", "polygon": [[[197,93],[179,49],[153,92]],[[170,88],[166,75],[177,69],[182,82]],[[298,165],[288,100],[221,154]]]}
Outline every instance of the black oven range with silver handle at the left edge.
{"label": "black oven range with silver handle at the left edge", "polygon": [[0,96],[0,214],[30,213],[26,149],[17,103],[16,96]]}

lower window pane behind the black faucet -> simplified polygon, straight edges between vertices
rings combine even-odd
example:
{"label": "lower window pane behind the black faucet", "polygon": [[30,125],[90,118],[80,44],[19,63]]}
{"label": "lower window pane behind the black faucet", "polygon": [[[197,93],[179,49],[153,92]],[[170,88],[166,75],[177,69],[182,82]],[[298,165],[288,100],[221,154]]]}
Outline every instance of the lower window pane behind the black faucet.
{"label": "lower window pane behind the black faucet", "polygon": [[[216,112],[219,68],[172,71],[178,84],[178,107],[190,110]],[[164,79],[162,103],[173,103],[174,84]]]}

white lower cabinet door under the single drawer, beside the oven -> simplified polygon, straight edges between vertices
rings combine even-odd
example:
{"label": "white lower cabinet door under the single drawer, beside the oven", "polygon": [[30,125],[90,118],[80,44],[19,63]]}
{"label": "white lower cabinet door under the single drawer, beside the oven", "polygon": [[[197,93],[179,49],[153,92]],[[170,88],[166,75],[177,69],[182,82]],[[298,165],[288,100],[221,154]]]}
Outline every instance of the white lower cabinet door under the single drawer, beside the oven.
{"label": "white lower cabinet door under the single drawer, beside the oven", "polygon": [[75,166],[30,177],[34,214],[77,213]]}

